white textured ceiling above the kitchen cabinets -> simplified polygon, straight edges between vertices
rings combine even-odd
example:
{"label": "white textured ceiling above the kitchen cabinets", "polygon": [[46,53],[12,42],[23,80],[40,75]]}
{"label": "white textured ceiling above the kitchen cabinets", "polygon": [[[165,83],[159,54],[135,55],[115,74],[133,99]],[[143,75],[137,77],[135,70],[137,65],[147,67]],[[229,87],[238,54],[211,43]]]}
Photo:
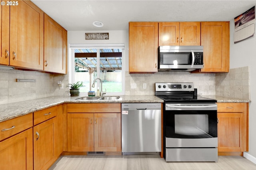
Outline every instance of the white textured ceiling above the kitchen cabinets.
{"label": "white textured ceiling above the kitchen cabinets", "polygon": [[[32,0],[68,31],[128,30],[130,21],[230,21],[256,0]],[[102,28],[92,25],[103,22]]]}

